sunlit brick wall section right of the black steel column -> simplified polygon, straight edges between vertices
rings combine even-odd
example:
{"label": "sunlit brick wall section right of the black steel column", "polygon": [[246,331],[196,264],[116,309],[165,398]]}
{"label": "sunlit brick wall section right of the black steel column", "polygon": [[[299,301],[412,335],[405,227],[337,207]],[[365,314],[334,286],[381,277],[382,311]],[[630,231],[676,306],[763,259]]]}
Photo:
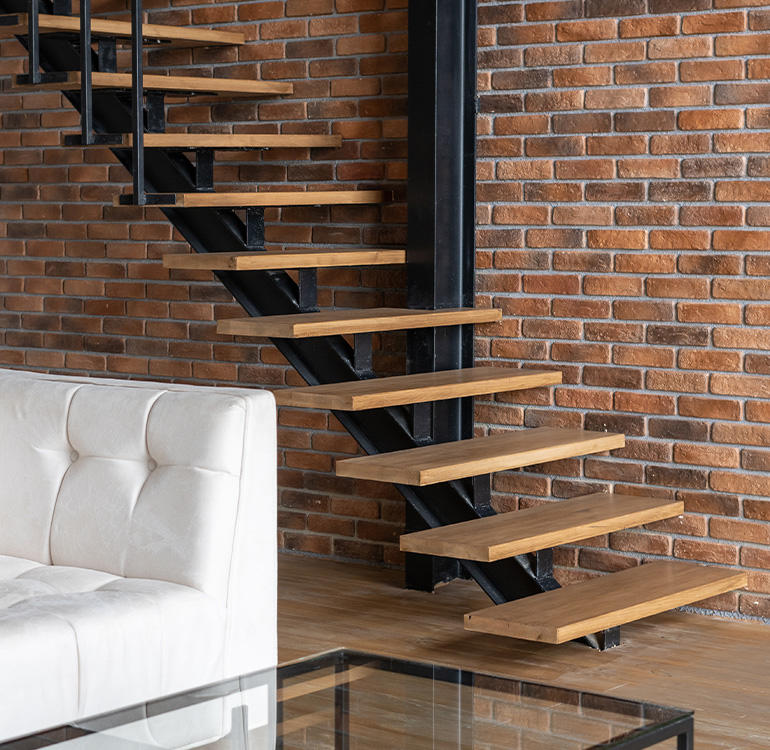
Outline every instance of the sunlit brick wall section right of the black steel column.
{"label": "sunlit brick wall section right of the black steel column", "polygon": [[770,616],[770,2],[479,7],[482,358],[564,385],[479,406],[480,430],[625,432],[609,458],[495,482],[501,507],[596,490],[681,519],[562,549],[568,579],[641,558],[743,565],[709,602]]}

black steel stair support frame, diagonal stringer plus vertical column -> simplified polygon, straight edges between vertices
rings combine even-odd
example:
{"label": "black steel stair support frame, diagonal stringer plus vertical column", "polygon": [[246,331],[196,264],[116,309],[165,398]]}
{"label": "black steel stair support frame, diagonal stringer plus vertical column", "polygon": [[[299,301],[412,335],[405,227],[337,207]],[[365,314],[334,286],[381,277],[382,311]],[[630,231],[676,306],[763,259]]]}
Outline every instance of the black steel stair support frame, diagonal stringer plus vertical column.
{"label": "black steel stair support frame, diagonal stringer plus vertical column", "polygon": [[[34,0],[31,0],[34,2]],[[27,12],[30,0],[0,0],[7,13]],[[51,12],[38,0],[40,12]],[[133,19],[134,26],[139,23]],[[409,104],[409,305],[447,308],[473,305],[475,281],[475,118],[476,0],[421,0],[410,3],[409,86],[420,91]],[[141,34],[140,34],[141,38]],[[80,70],[77,46],[62,38],[39,38],[38,54],[46,71]],[[33,45],[34,46],[34,45]],[[141,45],[134,45],[134,50]],[[92,65],[98,66],[94,55]],[[33,71],[34,74],[34,71]],[[79,92],[68,92],[82,111]],[[105,90],[91,92],[93,132],[132,132],[133,96]],[[86,109],[88,104],[86,103]],[[162,109],[162,107],[161,107]],[[157,119],[154,118],[154,119]],[[83,137],[85,138],[85,131]],[[137,137],[137,133],[134,133]],[[141,136],[140,136],[141,137]],[[137,164],[141,149],[113,147],[113,153],[149,193],[194,192],[209,187],[208,155],[196,164],[177,151],[154,149],[153,158]],[[137,172],[139,169],[139,173]],[[162,209],[168,220],[199,253],[239,252],[261,246],[261,216],[245,226],[236,213],[222,209]],[[315,279],[301,277],[303,288],[283,271],[217,272],[217,276],[251,316],[299,313],[315,305]],[[341,336],[274,339],[273,343],[309,385],[371,377],[371,341],[355,350]],[[454,326],[410,332],[410,372],[469,367],[473,364],[473,329]],[[472,399],[437,402],[428,410],[393,407],[335,416],[368,454],[404,450],[473,435]],[[472,520],[491,512],[488,478],[445,482],[427,487],[398,485],[407,501],[410,530]],[[407,566],[407,584],[431,590],[436,582],[462,569],[496,604],[558,587],[549,560],[520,556],[494,563],[435,560],[415,556]],[[597,646],[595,638],[588,639]]]}

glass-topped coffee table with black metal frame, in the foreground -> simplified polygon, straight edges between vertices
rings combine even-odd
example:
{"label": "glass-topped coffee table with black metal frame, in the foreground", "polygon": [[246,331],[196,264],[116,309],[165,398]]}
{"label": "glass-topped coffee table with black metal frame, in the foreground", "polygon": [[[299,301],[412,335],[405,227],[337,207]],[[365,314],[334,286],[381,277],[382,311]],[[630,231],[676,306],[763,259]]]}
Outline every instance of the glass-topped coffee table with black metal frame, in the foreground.
{"label": "glass-topped coffee table with black metal frame, in the foreground", "polygon": [[0,750],[640,750],[663,742],[692,750],[691,711],[340,649]]}

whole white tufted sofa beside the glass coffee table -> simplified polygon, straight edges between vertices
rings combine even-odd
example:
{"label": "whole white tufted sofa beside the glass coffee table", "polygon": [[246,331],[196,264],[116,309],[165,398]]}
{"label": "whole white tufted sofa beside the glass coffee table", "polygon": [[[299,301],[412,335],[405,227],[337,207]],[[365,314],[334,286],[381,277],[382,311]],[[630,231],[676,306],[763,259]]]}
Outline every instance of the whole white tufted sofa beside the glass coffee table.
{"label": "whole white tufted sofa beside the glass coffee table", "polygon": [[276,661],[272,395],[0,370],[0,739]]}

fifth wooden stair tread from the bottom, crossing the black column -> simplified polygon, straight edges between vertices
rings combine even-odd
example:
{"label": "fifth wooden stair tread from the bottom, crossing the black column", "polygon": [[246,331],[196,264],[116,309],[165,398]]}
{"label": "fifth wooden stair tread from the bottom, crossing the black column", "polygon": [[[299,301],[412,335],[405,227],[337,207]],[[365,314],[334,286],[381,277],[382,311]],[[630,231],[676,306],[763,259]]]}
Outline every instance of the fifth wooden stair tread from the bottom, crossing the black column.
{"label": "fifth wooden stair tread from the bottom, crossing the black column", "polygon": [[494,309],[473,307],[449,310],[410,310],[377,307],[370,310],[329,310],[297,315],[265,315],[257,318],[220,320],[217,333],[300,339],[412,328],[491,323],[502,318]]}

